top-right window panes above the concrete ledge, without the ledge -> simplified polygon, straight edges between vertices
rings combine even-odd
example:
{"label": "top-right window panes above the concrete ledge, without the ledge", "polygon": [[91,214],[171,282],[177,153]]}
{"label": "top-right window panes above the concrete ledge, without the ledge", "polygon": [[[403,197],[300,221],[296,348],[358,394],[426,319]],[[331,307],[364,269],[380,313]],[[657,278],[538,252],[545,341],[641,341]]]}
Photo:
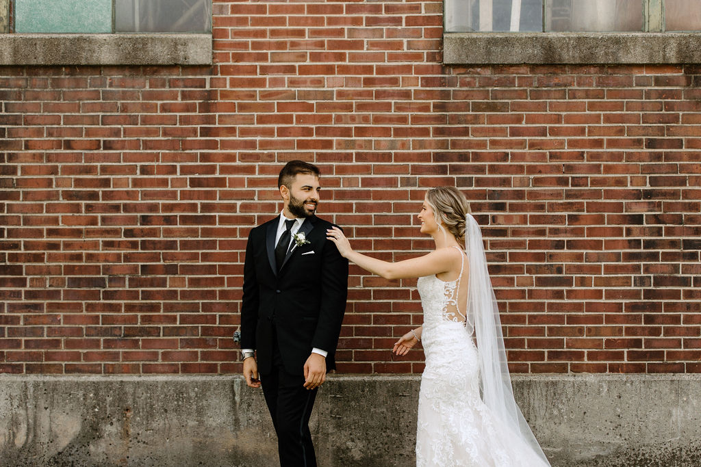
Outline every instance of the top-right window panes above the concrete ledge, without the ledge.
{"label": "top-right window panes above the concrete ledge, without the ledge", "polygon": [[446,0],[447,32],[701,30],[699,0]]}

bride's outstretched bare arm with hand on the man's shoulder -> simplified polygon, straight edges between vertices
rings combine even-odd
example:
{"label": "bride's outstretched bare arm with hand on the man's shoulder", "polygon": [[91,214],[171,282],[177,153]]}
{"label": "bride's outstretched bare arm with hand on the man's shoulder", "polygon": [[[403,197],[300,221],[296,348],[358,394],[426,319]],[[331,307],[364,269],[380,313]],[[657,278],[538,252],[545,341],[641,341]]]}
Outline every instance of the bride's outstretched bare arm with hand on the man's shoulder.
{"label": "bride's outstretched bare arm with hand on the man's shoulder", "polygon": [[364,270],[377,274],[385,279],[407,279],[409,277],[423,277],[431,274],[448,272],[460,264],[461,258],[454,248],[443,248],[430,253],[411,258],[410,260],[390,263],[353,251],[350,242],[338,228],[326,231],[327,238],[336,244],[339,253],[344,258],[362,267]]}

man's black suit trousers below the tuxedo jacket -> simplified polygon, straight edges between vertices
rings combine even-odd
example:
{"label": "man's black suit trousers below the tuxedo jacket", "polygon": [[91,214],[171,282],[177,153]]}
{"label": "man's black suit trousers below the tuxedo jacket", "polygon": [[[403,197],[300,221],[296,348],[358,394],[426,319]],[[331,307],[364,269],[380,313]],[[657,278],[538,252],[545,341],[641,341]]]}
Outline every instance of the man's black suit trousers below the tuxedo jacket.
{"label": "man's black suit trousers below the tuxedo jacket", "polygon": [[271,371],[259,375],[268,410],[278,435],[280,467],[316,467],[309,417],[317,389],[304,387],[304,375],[285,370],[273,326]]}

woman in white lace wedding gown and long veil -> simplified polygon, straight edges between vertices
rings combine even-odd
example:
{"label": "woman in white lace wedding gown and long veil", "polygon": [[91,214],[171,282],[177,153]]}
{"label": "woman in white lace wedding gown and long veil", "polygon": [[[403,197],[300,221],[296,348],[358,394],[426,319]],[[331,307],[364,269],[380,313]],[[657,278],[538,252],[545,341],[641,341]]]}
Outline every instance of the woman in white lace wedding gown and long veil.
{"label": "woman in white lace wedding gown and long veil", "polygon": [[386,279],[418,277],[423,325],[395,343],[405,355],[423,340],[416,466],[550,466],[516,405],[501,321],[479,225],[454,187],[428,190],[421,233],[435,250],[388,263],[353,251],[338,228],[327,236],[341,255]]}

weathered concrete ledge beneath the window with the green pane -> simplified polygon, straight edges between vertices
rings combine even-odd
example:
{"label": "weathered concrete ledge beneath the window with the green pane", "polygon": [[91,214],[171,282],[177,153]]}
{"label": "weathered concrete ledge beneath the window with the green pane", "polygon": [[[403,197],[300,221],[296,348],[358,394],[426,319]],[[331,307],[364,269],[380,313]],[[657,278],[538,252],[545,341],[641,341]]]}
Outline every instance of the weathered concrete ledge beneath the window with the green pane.
{"label": "weathered concrete ledge beneath the window with the green pane", "polygon": [[211,34],[0,34],[0,65],[210,65]]}

